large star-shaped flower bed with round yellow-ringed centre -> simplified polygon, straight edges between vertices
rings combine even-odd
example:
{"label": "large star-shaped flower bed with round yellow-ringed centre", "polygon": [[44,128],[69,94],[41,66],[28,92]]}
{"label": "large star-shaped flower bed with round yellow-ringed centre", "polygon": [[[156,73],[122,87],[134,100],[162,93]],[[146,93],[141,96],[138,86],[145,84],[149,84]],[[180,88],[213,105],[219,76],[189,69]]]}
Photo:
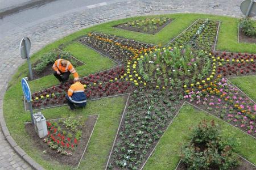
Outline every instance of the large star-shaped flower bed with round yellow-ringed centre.
{"label": "large star-shaped flower bed with round yellow-ringed centre", "polygon": [[[78,41],[120,65],[81,78],[89,100],[130,93],[108,168],[141,168],[184,101],[256,137],[256,105],[229,82],[255,75],[255,54],[214,52],[218,25],[197,20],[160,47],[102,33]],[[71,82],[36,92],[34,109],[65,104]]]}

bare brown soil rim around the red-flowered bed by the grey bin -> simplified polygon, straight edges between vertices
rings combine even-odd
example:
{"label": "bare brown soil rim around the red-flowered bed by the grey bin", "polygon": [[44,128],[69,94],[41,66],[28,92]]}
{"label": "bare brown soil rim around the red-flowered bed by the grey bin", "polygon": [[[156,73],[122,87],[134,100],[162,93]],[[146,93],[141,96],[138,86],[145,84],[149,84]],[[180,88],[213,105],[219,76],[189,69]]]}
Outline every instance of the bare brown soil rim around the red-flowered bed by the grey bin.
{"label": "bare brown soil rim around the red-flowered bed by the grey bin", "polygon": [[92,133],[94,124],[97,121],[97,115],[88,116],[84,126],[82,126],[82,137],[78,143],[78,146],[75,151],[73,151],[72,156],[57,154],[56,150],[52,150],[46,143],[43,142],[43,138],[39,138],[36,134],[34,126],[32,124],[26,124],[25,129],[31,137],[31,141],[36,150],[41,152],[46,151],[46,154],[43,154],[43,159],[46,160],[55,160],[60,164],[71,165],[73,167],[77,166],[80,162],[81,156],[85,150],[87,143],[89,142],[90,134]]}

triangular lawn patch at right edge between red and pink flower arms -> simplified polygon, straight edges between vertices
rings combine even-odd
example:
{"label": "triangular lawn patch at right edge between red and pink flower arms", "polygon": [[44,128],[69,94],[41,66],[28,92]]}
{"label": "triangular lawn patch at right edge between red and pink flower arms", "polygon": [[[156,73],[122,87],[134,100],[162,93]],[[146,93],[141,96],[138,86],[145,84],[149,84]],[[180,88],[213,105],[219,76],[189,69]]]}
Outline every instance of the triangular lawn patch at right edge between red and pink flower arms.
{"label": "triangular lawn patch at right edge between red and pink flower arms", "polygon": [[233,84],[240,88],[246,95],[256,101],[256,75],[240,76],[229,79]]}

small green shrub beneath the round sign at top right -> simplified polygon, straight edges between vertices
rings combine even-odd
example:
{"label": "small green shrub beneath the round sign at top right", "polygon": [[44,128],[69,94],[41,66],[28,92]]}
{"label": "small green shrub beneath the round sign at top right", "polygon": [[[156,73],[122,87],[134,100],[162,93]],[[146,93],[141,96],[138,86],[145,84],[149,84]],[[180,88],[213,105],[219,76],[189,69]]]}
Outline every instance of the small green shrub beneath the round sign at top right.
{"label": "small green shrub beneath the round sign at top right", "polygon": [[256,36],[256,27],[253,26],[253,20],[250,18],[243,18],[240,20],[240,28],[245,35],[254,37]]}

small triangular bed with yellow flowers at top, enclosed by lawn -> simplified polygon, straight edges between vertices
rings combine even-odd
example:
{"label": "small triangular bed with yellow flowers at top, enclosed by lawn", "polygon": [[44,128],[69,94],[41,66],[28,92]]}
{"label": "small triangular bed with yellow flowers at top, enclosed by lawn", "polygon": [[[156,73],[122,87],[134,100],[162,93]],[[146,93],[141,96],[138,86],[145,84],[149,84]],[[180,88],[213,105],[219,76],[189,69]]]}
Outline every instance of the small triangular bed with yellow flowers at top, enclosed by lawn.
{"label": "small triangular bed with yellow flowers at top, enclosed by lawn", "polygon": [[129,31],[142,32],[155,34],[158,33],[161,29],[170,24],[172,19],[170,18],[146,18],[141,20],[134,20],[128,23],[119,24],[114,26],[114,28],[126,29]]}

